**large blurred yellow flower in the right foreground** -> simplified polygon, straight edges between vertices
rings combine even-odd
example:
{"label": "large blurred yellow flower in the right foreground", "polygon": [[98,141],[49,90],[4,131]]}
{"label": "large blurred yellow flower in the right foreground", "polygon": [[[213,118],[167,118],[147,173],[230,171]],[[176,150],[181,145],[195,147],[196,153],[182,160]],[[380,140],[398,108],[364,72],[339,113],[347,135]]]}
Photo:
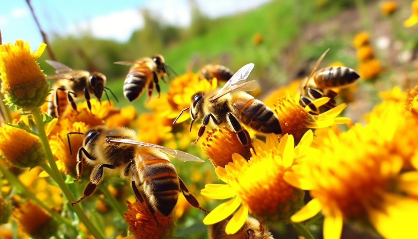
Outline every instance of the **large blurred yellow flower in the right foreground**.
{"label": "large blurred yellow flower in the right foreground", "polygon": [[[285,180],[313,198],[292,221],[325,216],[324,239],[337,239],[343,221],[371,225],[383,237],[418,238],[418,172],[405,163],[418,156],[417,122],[405,124],[388,108],[366,126],[334,134],[306,157]],[[399,145],[402,144],[402,145]]]}

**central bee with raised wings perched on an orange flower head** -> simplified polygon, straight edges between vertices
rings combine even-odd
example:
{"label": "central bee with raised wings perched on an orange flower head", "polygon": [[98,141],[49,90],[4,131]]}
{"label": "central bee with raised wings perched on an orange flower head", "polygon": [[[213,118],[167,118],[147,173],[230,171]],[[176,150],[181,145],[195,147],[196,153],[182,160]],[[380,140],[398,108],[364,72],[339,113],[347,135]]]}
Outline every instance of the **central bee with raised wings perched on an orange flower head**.
{"label": "central bee with raised wings perched on an orange flower head", "polygon": [[282,132],[279,120],[273,111],[260,100],[245,93],[245,90],[257,88],[255,80],[245,82],[253,67],[252,63],[243,66],[220,90],[200,91],[192,96],[191,106],[183,109],[173,122],[176,123],[178,117],[188,109],[191,116],[190,129],[196,119],[203,119],[196,141],[192,145],[196,144],[203,135],[211,118],[214,127],[225,125],[235,131],[244,146],[251,141],[248,132],[241,127],[241,123],[263,134]]}

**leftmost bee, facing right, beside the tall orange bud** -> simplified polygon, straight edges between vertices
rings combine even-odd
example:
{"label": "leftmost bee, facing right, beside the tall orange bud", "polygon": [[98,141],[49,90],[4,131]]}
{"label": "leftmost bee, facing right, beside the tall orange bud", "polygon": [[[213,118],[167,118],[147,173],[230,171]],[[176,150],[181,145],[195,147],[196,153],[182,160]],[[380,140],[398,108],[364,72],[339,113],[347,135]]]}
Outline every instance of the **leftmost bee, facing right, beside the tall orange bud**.
{"label": "leftmost bee, facing right, beside the tall orange bud", "polygon": [[48,114],[54,118],[58,118],[65,111],[68,103],[71,103],[72,108],[77,111],[74,98],[81,98],[82,95],[86,98],[90,111],[92,111],[90,94],[94,94],[100,102],[103,91],[109,100],[106,92],[106,90],[109,90],[117,100],[112,90],[104,86],[106,85],[106,76],[102,73],[73,70],[62,63],[51,60],[46,60],[46,63],[54,67],[57,74],[48,76],[48,79],[56,79],[52,86],[54,93],[49,95],[48,100]]}

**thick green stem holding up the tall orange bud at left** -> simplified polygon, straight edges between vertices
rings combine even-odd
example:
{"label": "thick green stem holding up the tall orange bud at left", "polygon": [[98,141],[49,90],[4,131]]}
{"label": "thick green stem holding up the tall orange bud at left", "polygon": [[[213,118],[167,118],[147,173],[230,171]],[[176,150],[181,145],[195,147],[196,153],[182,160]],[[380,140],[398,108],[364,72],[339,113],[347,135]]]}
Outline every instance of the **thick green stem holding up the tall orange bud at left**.
{"label": "thick green stem holding up the tall orange bud at left", "polygon": [[[41,140],[41,144],[43,146],[43,149],[45,150],[46,158],[48,159],[49,166],[51,167],[50,175],[56,181],[58,186],[61,188],[66,198],[70,202],[75,202],[76,198],[74,198],[74,195],[71,193],[70,189],[68,188],[68,185],[66,185],[64,178],[61,175],[61,172],[59,172],[58,167],[56,166],[56,162],[55,162],[54,156],[52,155],[51,147],[49,146],[48,138],[45,133],[41,111],[39,110],[39,108],[34,109],[32,111],[32,115],[33,115],[33,119],[35,120],[36,126],[38,127],[39,139]],[[79,204],[74,204],[73,209],[79,216],[80,221],[82,221],[84,226],[86,226],[86,228],[89,230],[92,236],[94,236],[94,238],[104,239],[102,234],[100,234],[97,228],[89,220],[89,218],[86,216],[86,214],[84,213],[84,211],[82,210]]]}

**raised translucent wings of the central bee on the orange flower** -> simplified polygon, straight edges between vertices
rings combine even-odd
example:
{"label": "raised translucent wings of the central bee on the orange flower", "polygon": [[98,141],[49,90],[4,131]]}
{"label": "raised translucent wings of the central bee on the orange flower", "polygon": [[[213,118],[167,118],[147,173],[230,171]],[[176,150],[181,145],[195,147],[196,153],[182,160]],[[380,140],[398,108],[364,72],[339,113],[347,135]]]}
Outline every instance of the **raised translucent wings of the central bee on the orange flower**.
{"label": "raised translucent wings of the central bee on the orange flower", "polygon": [[245,66],[241,67],[235,74],[231,77],[231,79],[228,80],[228,82],[222,87],[222,89],[219,90],[219,92],[214,95],[212,98],[210,98],[210,101],[217,100],[218,98],[222,97],[223,95],[228,94],[229,92],[232,92],[234,90],[240,89],[244,91],[251,91],[255,90],[257,88],[257,83],[255,80],[245,82],[248,75],[250,75],[250,72],[254,68],[254,64],[246,64]]}

